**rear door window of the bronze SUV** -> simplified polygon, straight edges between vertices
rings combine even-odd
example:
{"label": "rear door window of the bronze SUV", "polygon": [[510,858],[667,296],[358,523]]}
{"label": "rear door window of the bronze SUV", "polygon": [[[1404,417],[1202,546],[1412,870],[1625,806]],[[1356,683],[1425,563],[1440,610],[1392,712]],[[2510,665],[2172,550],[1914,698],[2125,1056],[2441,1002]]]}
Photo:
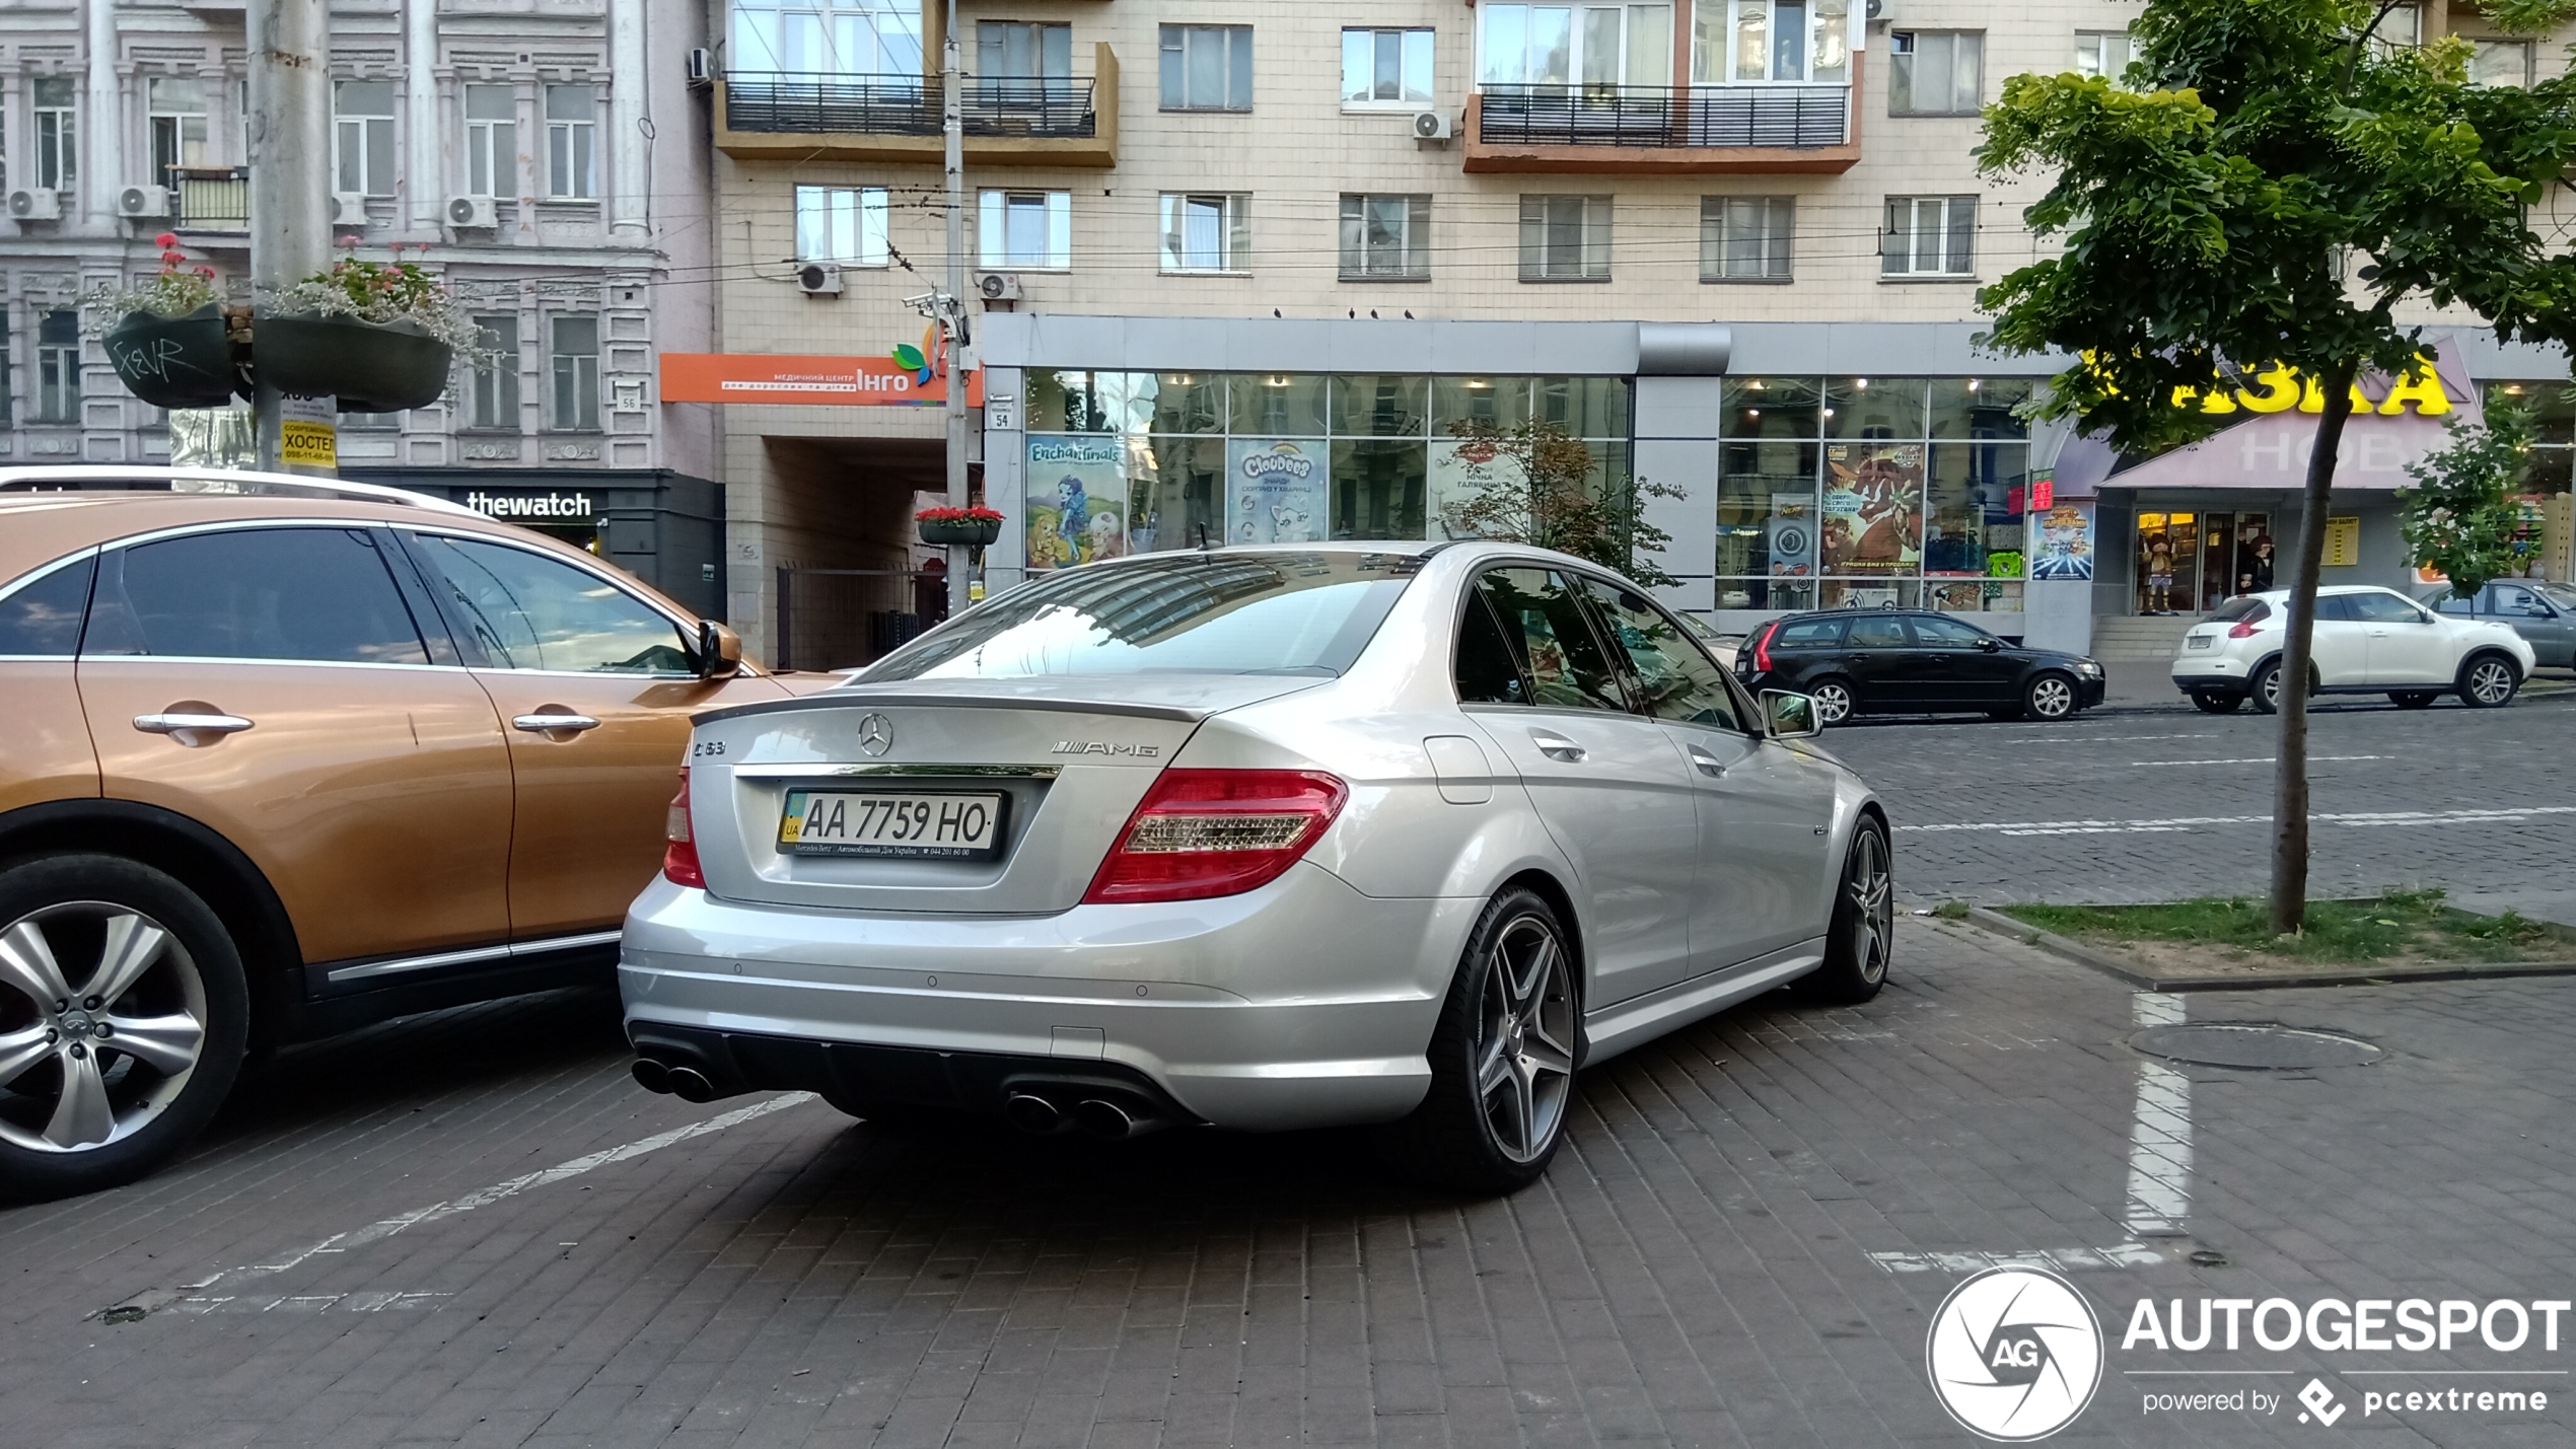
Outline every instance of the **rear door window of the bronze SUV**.
{"label": "rear door window of the bronze SUV", "polygon": [[428,664],[361,528],[245,528],[113,548],[82,654]]}

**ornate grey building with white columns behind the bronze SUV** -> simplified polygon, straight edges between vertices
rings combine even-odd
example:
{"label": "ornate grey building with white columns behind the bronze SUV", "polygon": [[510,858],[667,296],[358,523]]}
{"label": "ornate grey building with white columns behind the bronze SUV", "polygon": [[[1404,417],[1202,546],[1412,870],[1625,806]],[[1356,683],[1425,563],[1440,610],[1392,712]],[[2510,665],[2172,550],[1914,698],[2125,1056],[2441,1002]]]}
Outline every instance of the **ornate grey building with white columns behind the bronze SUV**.
{"label": "ornate grey building with white columns behind the bronze SUV", "polygon": [[[420,247],[497,353],[438,407],[343,414],[343,474],[562,533],[716,613],[721,420],[652,399],[654,355],[706,347],[714,317],[703,28],[688,0],[343,0],[330,147],[340,239]],[[8,8],[0,461],[170,458],[170,414],[124,391],[77,299],[149,275],[162,232],[247,278],[245,108],[242,0]]]}

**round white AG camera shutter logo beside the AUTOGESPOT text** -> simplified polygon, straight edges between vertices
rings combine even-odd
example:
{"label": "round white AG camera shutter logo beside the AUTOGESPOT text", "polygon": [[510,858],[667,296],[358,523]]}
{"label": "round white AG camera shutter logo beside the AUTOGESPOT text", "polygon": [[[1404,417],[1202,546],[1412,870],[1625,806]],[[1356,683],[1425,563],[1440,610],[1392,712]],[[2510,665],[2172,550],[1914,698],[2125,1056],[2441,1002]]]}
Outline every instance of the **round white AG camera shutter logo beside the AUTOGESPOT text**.
{"label": "round white AG camera shutter logo beside the AUTOGESPOT text", "polygon": [[1924,1341],[1932,1395],[1981,1439],[2066,1428],[2102,1387],[2102,1323],[2043,1269],[1986,1269],[1950,1289]]}

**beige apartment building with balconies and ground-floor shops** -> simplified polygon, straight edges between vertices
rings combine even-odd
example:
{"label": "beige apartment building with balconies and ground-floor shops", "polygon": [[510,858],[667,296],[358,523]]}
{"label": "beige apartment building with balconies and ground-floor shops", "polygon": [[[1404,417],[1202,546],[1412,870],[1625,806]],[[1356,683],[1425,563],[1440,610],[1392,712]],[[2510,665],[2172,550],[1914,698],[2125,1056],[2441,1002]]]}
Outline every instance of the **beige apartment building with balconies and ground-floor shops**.
{"label": "beige apartment building with balconies and ground-floor shops", "polygon": [[[917,342],[904,299],[945,257],[943,5],[716,5],[721,350],[757,373]],[[2290,556],[2298,412],[2251,399],[2259,445],[2231,432],[2123,481],[2097,443],[2014,414],[2053,360],[1973,342],[1976,288],[2040,255],[2038,183],[1976,175],[1978,108],[2014,72],[2117,77],[2136,13],[966,0],[976,481],[1010,515],[987,569],[1440,538],[1494,476],[1455,425],[1538,417],[1602,476],[1682,492],[1649,502],[1667,595],[1721,628],[1924,605],[2035,643],[2141,615],[2159,636],[2241,587],[2257,540]],[[2478,49],[2496,85],[2555,64]],[[2388,497],[2445,414],[2566,376],[2473,327],[2437,355],[2372,383],[2339,579],[2403,577]],[[840,404],[878,399],[726,407],[729,610],[801,664],[930,610],[904,574],[927,561],[909,515],[943,486],[940,417]],[[2576,420],[2550,427],[2576,443]]]}

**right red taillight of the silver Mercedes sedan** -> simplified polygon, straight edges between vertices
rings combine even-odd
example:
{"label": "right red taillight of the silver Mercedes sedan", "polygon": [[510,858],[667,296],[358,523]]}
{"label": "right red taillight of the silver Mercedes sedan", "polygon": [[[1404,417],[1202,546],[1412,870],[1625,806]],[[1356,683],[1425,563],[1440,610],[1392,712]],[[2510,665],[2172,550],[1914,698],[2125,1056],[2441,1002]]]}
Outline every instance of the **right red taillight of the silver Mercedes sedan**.
{"label": "right red taillight of the silver Mercedes sedan", "polygon": [[1280,878],[1342,813],[1319,770],[1164,770],[1128,816],[1084,903],[1200,901]]}

